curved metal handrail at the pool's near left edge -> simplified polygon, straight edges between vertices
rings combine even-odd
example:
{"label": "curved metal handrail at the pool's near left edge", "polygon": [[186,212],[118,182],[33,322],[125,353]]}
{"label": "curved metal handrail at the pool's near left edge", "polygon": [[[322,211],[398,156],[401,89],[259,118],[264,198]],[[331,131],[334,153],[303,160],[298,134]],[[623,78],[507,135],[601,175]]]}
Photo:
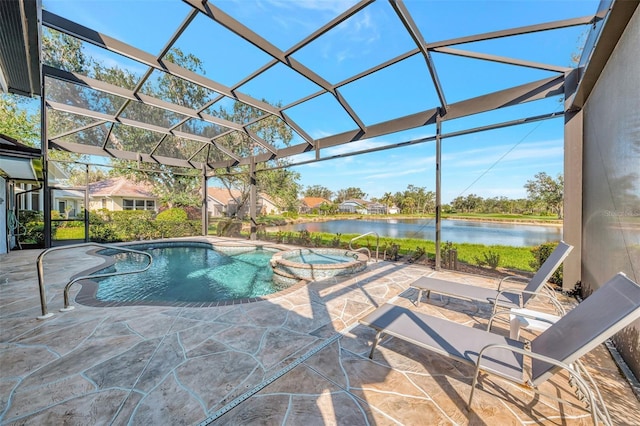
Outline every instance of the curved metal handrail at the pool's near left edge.
{"label": "curved metal handrail at the pool's near left edge", "polygon": [[143,255],[143,256],[147,257],[147,259],[149,260],[149,263],[143,269],[136,269],[136,270],[133,270],[133,271],[121,271],[121,272],[117,272],[116,271],[116,272],[109,272],[109,273],[106,273],[106,274],[86,275],[86,276],[76,277],[76,278],[72,279],[64,287],[64,308],[60,309],[62,312],[70,311],[71,309],[73,309],[73,306],[69,306],[69,289],[71,288],[71,286],[74,283],[76,283],[76,282],[78,282],[80,280],[83,280],[83,279],[88,279],[88,278],[103,278],[103,277],[111,277],[111,276],[115,276],[115,275],[137,274],[137,273],[144,272],[147,269],[149,269],[151,267],[151,264],[153,263],[153,257],[149,253],[145,253],[145,252],[139,251],[139,250],[133,250],[133,249],[126,248],[126,247],[113,246],[113,245],[109,245],[109,244],[82,243],[82,244],[71,244],[71,245],[68,245],[68,246],[48,248],[45,251],[43,251],[42,253],[40,253],[40,255],[38,256],[38,259],[36,260],[36,265],[37,265],[37,268],[38,268],[38,287],[40,289],[40,306],[42,308],[42,315],[37,317],[38,319],[47,319],[47,318],[50,318],[50,317],[53,316],[53,313],[48,312],[48,310],[47,310],[47,296],[46,296],[46,290],[45,290],[45,287],[44,287],[44,265],[43,265],[44,257],[47,254],[51,253],[52,251],[66,250],[66,249],[72,249],[72,248],[81,248],[81,247],[90,247],[90,246],[101,247],[101,248],[117,250],[117,251],[123,251],[123,252],[128,252],[128,253],[140,254],[140,255]]}

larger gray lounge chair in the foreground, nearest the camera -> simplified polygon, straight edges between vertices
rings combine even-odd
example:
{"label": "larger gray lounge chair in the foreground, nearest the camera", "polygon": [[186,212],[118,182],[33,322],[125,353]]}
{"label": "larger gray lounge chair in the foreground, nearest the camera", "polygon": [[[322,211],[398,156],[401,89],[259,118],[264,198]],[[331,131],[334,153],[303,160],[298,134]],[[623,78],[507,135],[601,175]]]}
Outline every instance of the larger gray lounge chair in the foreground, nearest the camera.
{"label": "larger gray lounge chair in the foreground, nearest the camera", "polygon": [[[578,359],[638,318],[640,286],[619,273],[531,340],[530,349],[525,348],[525,343],[508,337],[390,304],[376,309],[360,323],[377,331],[369,358],[373,357],[381,336],[387,334],[475,365],[469,408],[480,371],[538,392],[537,386],[564,369],[571,377],[570,383],[577,387],[578,396],[588,401],[594,424],[597,424],[597,418],[610,424],[597,386],[589,378],[592,390],[582,378],[586,370]],[[527,375],[525,357],[531,359],[530,374]],[[529,378],[525,380],[525,376]]]}

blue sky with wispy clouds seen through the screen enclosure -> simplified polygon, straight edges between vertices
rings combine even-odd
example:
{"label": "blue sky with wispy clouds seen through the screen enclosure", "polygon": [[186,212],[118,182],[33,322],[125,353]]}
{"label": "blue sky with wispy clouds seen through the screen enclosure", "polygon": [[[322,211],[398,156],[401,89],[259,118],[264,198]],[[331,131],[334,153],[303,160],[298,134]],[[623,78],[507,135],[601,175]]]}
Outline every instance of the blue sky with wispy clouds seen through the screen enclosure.
{"label": "blue sky with wispy clouds seen through the screen enclosure", "polygon": [[[427,42],[504,28],[593,15],[596,0],[570,1],[426,1],[405,0]],[[251,27],[286,51],[337,14],[351,7],[347,0],[223,0],[214,1],[225,13]],[[103,34],[157,54],[185,19],[190,8],[180,1],[44,0],[45,9]],[[148,25],[155,23],[155,25]],[[588,27],[580,26],[525,36],[505,37],[455,46],[459,49],[571,66]],[[270,60],[246,41],[199,15],[177,40],[176,47],[201,58],[206,76],[229,87]],[[336,84],[347,77],[405,53],[416,46],[388,1],[378,1],[294,53],[293,57]],[[106,65],[126,67],[138,75],[142,64],[86,45],[85,52]],[[226,55],[241,53],[232,63]],[[432,52],[448,103],[556,75],[513,65],[497,64]],[[156,71],[157,72],[157,71]],[[366,125],[428,110],[438,97],[420,55],[388,67],[339,90]],[[271,103],[287,105],[318,90],[314,83],[277,65],[239,91]],[[530,102],[501,111],[445,121],[448,133],[491,123],[561,112],[559,98]],[[311,137],[353,130],[356,126],[336,100],[323,95],[286,110]],[[383,147],[432,137],[434,126],[352,142],[321,151],[322,157]],[[294,143],[302,139],[294,138]],[[408,185],[435,190],[435,143],[354,155],[293,167],[304,187],[321,185],[337,192],[362,189],[367,198],[403,191]],[[563,170],[563,120],[556,118],[466,136],[445,137],[442,143],[442,200],[476,194],[482,197],[524,198],[524,184],[539,172],[557,176]],[[313,153],[292,158],[303,162]]]}

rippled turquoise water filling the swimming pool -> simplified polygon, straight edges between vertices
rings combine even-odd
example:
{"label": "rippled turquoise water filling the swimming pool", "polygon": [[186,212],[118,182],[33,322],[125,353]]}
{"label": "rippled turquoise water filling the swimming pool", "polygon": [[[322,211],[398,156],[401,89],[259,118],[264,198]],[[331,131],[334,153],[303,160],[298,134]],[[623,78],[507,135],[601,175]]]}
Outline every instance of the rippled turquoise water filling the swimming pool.
{"label": "rippled turquoise water filling the swimming pool", "polygon": [[[259,297],[279,291],[269,260],[273,251],[255,249],[225,254],[204,246],[137,248],[153,256],[151,268],[139,274],[96,280],[96,299],[110,302],[215,302]],[[97,271],[139,269],[141,261],[125,253]],[[137,256],[141,257],[141,256]]]}

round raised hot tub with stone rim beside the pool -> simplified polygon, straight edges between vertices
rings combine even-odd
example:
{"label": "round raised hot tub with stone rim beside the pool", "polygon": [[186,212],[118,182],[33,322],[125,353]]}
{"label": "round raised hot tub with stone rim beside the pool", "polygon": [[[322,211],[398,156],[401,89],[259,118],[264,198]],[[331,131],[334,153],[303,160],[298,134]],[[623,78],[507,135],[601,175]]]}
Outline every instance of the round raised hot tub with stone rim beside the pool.
{"label": "round raised hot tub with stone rim beside the pool", "polygon": [[364,253],[336,249],[295,249],[275,253],[271,257],[273,280],[292,284],[299,280],[320,281],[338,275],[360,272],[369,258]]}

